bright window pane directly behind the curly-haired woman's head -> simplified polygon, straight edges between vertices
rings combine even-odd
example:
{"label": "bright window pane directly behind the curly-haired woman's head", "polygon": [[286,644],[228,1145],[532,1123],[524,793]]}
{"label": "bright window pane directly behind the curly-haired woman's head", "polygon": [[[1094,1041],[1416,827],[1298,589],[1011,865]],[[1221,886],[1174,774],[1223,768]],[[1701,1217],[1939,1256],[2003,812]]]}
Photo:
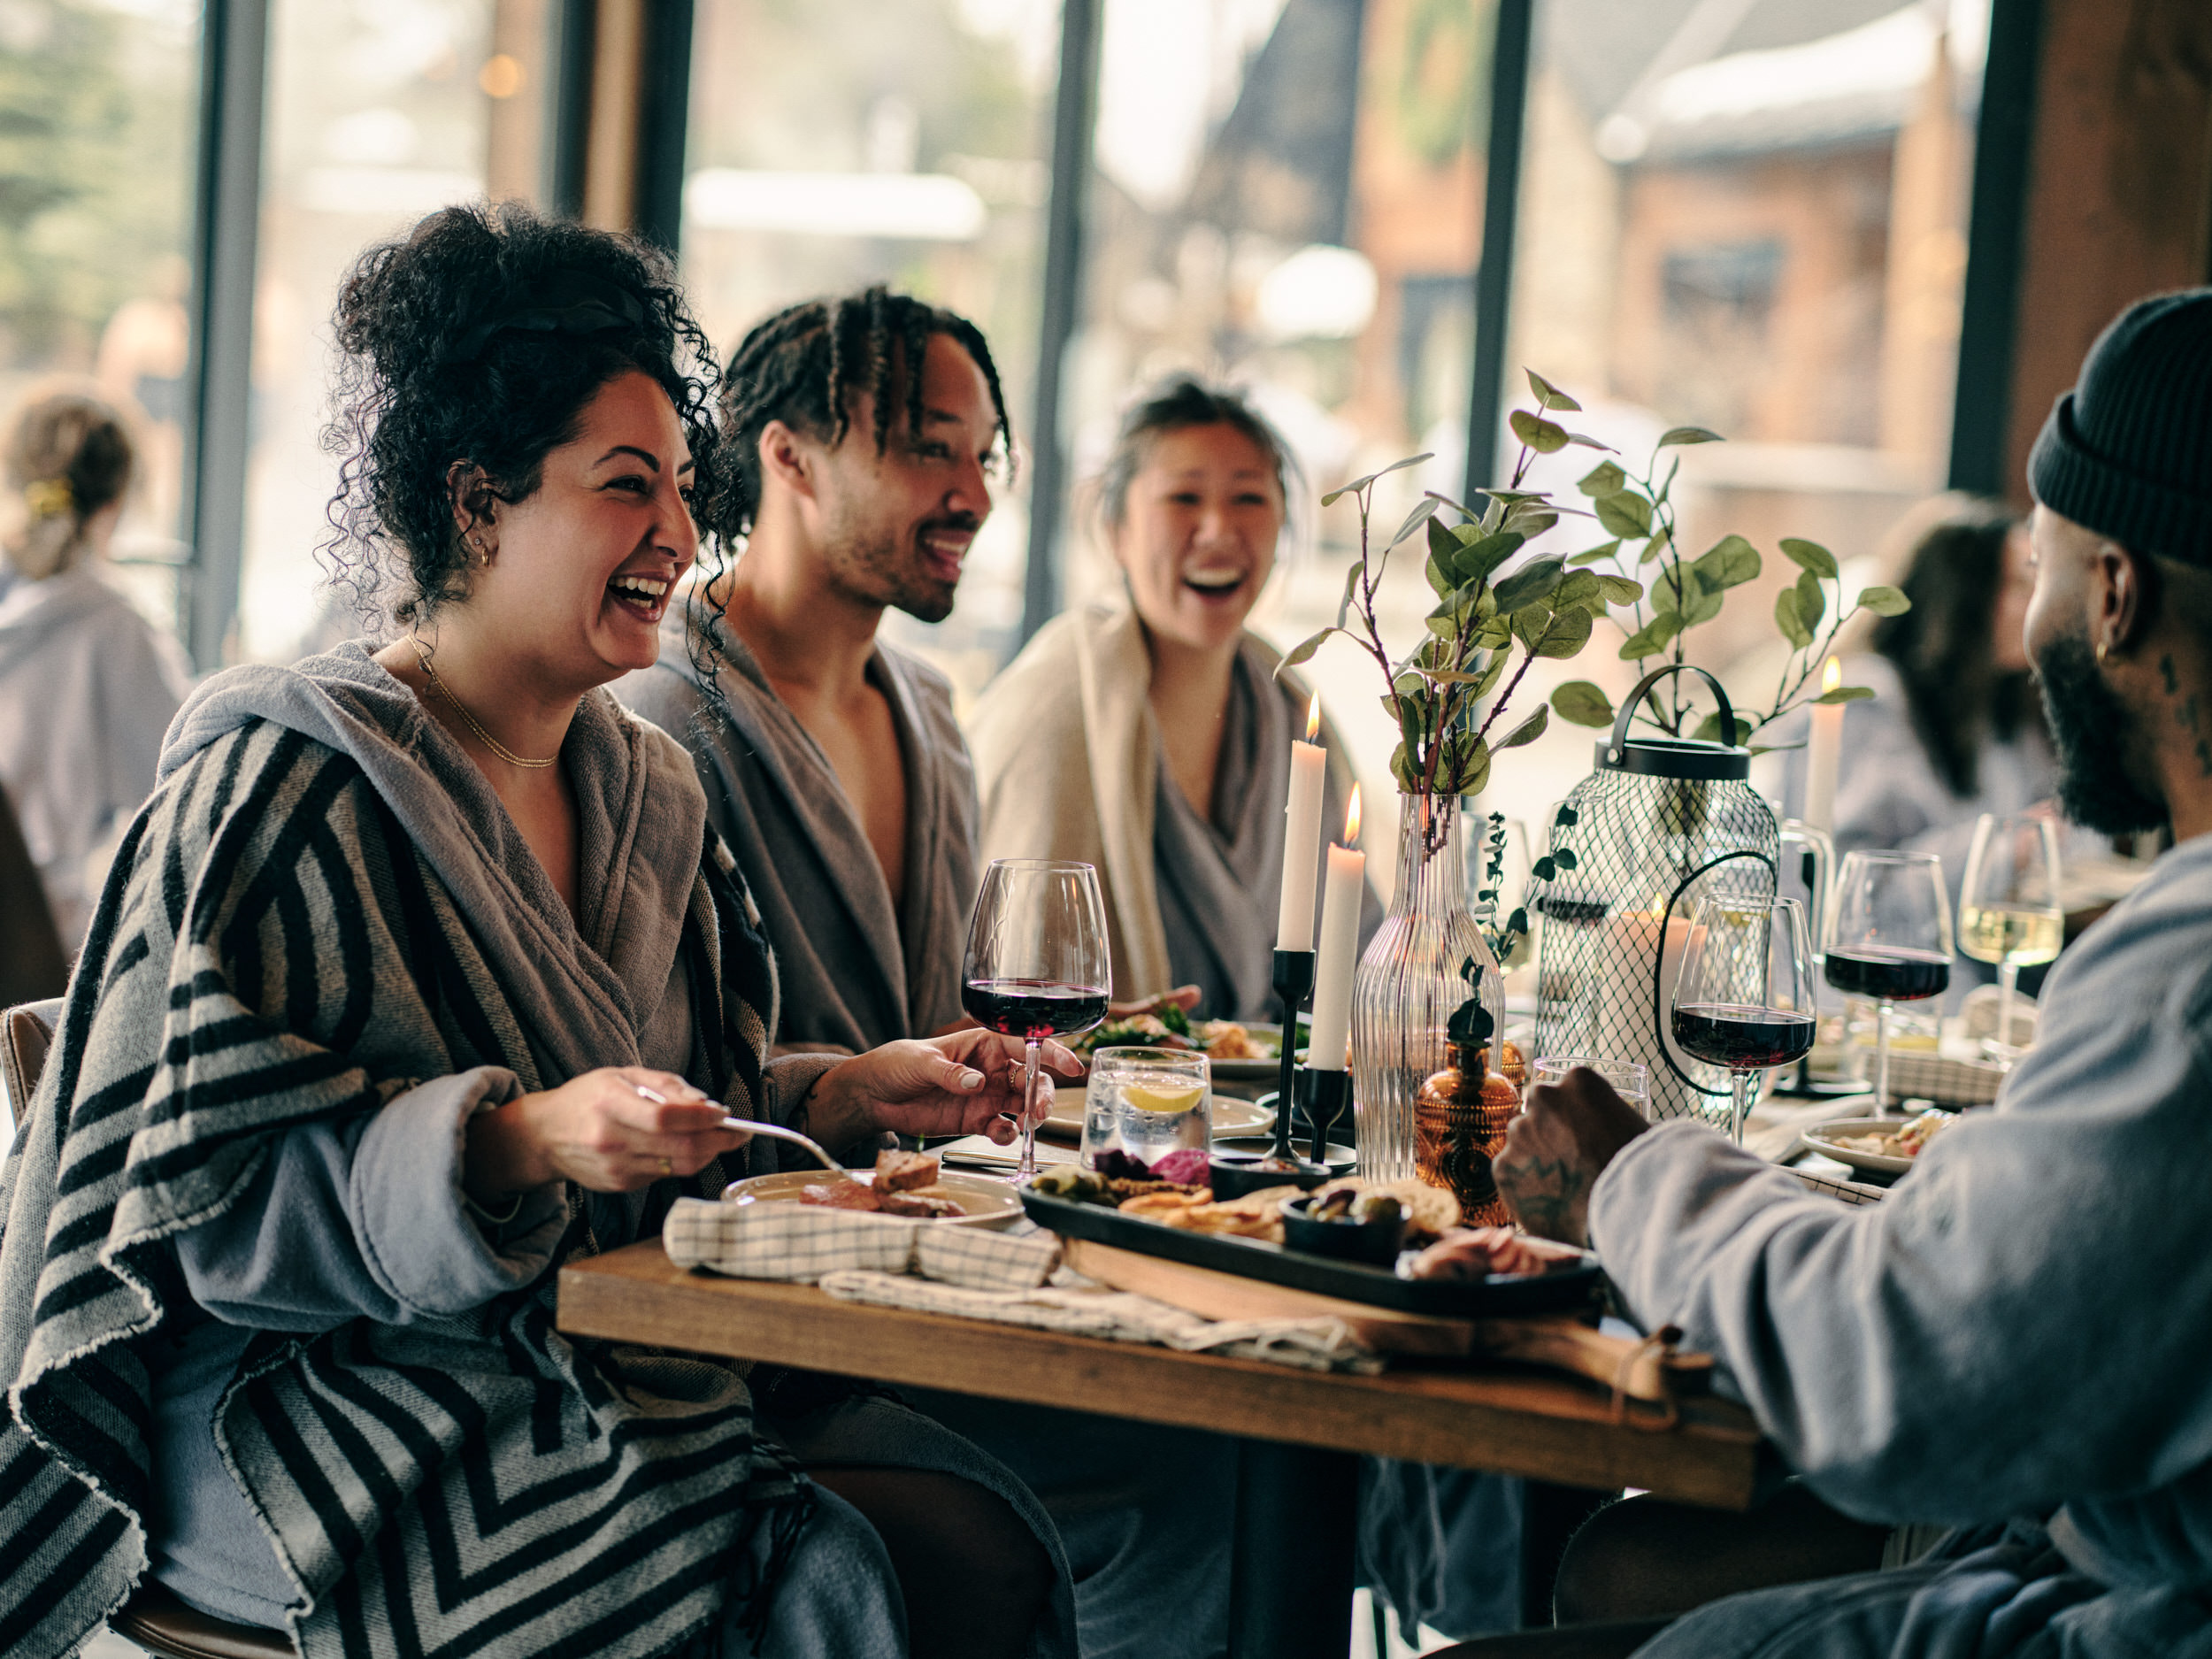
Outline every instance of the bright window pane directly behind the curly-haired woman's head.
{"label": "bright window pane directly behind the curly-haired woman's head", "polygon": [[434,208],[544,195],[551,0],[276,0],[237,653],[354,630],[319,591],[338,276]]}

